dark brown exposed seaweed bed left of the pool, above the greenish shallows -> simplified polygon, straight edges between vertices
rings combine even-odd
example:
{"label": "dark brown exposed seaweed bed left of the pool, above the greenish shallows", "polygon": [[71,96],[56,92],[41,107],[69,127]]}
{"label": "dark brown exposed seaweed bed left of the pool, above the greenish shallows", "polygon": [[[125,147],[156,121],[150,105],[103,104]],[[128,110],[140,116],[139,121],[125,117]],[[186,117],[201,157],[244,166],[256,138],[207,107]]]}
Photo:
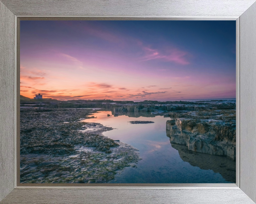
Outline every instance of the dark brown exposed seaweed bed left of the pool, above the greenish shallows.
{"label": "dark brown exposed seaweed bed left of the pool, above the greenish shallows", "polygon": [[[73,154],[75,145],[95,147],[98,151],[109,152],[118,146],[112,139],[101,133],[112,130],[101,125],[98,131],[82,132],[91,109],[47,109],[23,108],[21,110],[21,154]],[[95,124],[92,124],[95,126]]]}

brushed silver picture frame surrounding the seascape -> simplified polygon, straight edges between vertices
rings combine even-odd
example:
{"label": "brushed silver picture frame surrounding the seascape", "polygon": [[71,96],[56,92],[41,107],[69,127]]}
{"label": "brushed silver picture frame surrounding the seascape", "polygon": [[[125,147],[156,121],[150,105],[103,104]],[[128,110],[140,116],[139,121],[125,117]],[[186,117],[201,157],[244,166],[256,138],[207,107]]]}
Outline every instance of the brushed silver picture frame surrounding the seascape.
{"label": "brushed silver picture frame surrounding the seascape", "polygon": [[[0,0],[0,203],[255,203],[256,0]],[[236,21],[236,183],[20,185],[19,20]]]}

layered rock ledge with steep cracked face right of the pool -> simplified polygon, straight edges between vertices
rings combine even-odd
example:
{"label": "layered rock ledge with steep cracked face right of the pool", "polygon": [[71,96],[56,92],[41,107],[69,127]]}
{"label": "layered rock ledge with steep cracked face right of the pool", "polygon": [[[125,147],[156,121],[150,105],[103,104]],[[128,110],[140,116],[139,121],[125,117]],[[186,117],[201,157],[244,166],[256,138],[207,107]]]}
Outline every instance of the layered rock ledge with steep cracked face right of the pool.
{"label": "layered rock ledge with steep cracked face right of the pool", "polygon": [[236,159],[235,110],[176,111],[166,121],[170,142],[188,150]]}

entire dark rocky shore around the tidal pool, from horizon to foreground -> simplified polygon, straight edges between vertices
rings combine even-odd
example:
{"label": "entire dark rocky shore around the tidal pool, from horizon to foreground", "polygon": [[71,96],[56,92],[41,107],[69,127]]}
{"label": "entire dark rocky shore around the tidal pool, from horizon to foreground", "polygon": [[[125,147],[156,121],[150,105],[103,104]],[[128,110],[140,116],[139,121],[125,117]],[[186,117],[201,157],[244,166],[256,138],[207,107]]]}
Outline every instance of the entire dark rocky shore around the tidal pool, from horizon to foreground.
{"label": "entire dark rocky shore around the tidal pool, from horizon to foreground", "polygon": [[[166,121],[166,134],[184,161],[188,158],[183,155],[186,151],[221,156],[230,162],[236,159],[235,101],[28,101],[21,102],[21,182],[108,182],[125,167],[136,167],[140,160],[138,149],[102,135],[102,132],[112,128],[82,122],[83,119],[93,118],[90,115],[96,112],[87,108],[104,108],[111,111],[113,117],[163,115],[170,118]],[[131,122],[143,123],[139,120]],[[189,161],[198,163],[193,162],[193,155],[191,157],[189,154]],[[74,163],[74,158],[80,158],[80,163],[77,159],[78,163]],[[88,162],[83,168],[89,175],[84,172],[84,176],[80,175],[78,179],[66,180],[67,175],[76,175],[78,166],[85,164],[84,159]],[[41,161],[45,162],[43,167]],[[49,161],[57,164],[58,168],[48,166]],[[74,168],[71,167],[73,164],[76,164]],[[91,168],[91,165],[95,168]],[[102,165],[105,166],[103,171],[100,170]],[[200,167],[201,164],[195,165]],[[202,165],[202,168],[205,166]],[[235,162],[228,164],[228,169],[224,168],[224,162],[217,166],[227,178],[234,178]]]}

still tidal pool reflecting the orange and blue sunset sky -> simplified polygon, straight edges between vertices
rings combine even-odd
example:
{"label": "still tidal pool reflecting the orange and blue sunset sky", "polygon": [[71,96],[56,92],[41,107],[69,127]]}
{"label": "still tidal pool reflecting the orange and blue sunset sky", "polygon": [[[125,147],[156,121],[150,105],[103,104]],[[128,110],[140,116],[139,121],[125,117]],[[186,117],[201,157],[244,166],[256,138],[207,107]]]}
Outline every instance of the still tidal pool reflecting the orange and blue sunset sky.
{"label": "still tidal pool reflecting the orange and blue sunset sky", "polygon": [[[107,115],[110,116],[107,116]],[[113,115],[100,110],[95,118],[83,120],[101,123],[114,130],[103,135],[139,149],[137,168],[126,168],[111,183],[231,183],[235,172],[220,166],[234,162],[215,155],[187,151],[186,146],[173,145],[166,136],[166,121],[162,115],[148,113]],[[129,121],[153,121],[149,124],[130,124]]]}

